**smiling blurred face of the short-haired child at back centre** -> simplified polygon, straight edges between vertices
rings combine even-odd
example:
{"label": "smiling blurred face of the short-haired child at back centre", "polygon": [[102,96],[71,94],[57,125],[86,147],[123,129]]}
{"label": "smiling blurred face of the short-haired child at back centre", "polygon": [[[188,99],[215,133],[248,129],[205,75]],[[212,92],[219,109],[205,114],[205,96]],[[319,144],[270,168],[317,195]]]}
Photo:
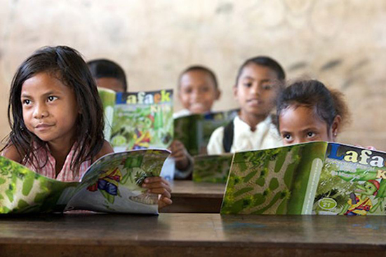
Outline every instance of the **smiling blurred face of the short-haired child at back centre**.
{"label": "smiling blurred face of the short-haired child at back centre", "polygon": [[206,113],[211,111],[220,92],[205,71],[188,71],[181,76],[178,96],[185,109],[192,113]]}

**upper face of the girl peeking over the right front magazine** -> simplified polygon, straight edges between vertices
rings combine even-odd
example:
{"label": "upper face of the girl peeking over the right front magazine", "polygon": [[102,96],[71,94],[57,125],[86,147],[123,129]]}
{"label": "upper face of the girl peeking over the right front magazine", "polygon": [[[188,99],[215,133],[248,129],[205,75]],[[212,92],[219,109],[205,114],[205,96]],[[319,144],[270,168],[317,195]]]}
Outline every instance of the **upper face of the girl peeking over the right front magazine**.
{"label": "upper face of the girl peeking over the right front magazine", "polygon": [[279,116],[279,132],[283,144],[308,141],[333,141],[327,123],[320,120],[307,106],[289,106]]}

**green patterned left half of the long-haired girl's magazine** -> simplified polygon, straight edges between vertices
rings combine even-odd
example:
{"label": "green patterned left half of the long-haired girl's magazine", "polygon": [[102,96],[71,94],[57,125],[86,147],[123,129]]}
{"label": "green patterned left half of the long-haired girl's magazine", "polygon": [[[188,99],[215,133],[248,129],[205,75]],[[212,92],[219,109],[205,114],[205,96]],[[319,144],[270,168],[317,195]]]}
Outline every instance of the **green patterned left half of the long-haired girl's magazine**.
{"label": "green patterned left half of the long-haired girl's magazine", "polygon": [[0,214],[63,211],[78,182],[48,179],[27,167],[0,156]]}

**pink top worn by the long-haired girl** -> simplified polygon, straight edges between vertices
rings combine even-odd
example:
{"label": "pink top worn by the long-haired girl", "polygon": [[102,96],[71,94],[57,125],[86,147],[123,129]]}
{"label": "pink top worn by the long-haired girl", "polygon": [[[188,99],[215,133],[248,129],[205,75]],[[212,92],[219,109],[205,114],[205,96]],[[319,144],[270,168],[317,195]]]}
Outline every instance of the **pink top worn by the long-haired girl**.
{"label": "pink top worn by the long-haired girl", "polygon": [[[58,176],[56,176],[55,172],[55,165],[56,160],[53,158],[53,155],[51,155],[50,151],[47,149],[45,151],[44,148],[39,148],[39,150],[36,151],[36,158],[38,159],[38,163],[33,162],[27,162],[25,164],[25,167],[35,170],[34,165],[36,167],[41,167],[46,162],[46,156],[48,155],[47,163],[44,167],[42,167],[39,171],[36,171],[37,173],[47,176],[50,179],[56,179],[59,181],[79,181],[81,176],[86,172],[88,167],[91,165],[91,160],[86,160],[85,162],[82,162],[81,166],[79,167],[79,175],[74,175],[71,169],[71,160],[72,156],[74,156],[75,152],[75,144],[72,146],[71,150],[69,151],[65,163],[63,164],[62,169],[60,170]],[[36,160],[34,160],[36,162]]]}

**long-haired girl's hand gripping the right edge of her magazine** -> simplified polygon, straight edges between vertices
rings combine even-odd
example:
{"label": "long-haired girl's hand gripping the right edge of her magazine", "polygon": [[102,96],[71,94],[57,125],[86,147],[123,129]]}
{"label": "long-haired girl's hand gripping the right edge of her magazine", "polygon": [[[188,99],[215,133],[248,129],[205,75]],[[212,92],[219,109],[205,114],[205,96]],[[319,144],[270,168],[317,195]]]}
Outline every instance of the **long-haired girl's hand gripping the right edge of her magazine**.
{"label": "long-haired girl's hand gripping the right edge of her magazine", "polygon": [[158,209],[162,209],[170,204],[171,200],[171,186],[168,181],[161,176],[151,176],[145,179],[142,183],[143,188],[147,188],[147,193],[159,194]]}

